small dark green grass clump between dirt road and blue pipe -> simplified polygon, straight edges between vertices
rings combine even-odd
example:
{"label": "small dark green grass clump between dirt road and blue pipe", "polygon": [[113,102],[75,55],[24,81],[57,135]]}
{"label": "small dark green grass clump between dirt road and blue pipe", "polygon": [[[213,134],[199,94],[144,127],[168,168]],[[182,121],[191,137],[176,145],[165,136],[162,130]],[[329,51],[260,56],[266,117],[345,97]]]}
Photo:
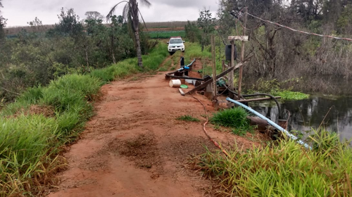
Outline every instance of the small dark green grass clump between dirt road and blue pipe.
{"label": "small dark green grass clump between dirt road and blue pipe", "polygon": [[230,127],[232,132],[237,135],[244,135],[246,132],[252,132],[253,127],[249,124],[250,121],[247,119],[247,113],[244,108],[231,108],[227,110],[220,110],[218,113],[214,113],[211,117],[210,122],[213,125],[219,125],[222,127]]}

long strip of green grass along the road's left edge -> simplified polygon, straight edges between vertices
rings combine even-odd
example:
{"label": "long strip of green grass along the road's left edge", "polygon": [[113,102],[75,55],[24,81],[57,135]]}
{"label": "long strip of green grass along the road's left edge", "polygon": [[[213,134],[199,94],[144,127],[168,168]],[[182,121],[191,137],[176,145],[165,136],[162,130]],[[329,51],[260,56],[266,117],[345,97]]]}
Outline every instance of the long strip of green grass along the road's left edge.
{"label": "long strip of green grass along the road's left edge", "polygon": [[[168,56],[165,44],[143,56],[127,59],[87,75],[65,75],[47,87],[28,89],[0,111],[0,196],[41,196],[51,176],[64,166],[60,147],[74,141],[93,115],[95,98],[106,82],[151,72]],[[54,117],[25,115],[32,105],[52,106]]]}

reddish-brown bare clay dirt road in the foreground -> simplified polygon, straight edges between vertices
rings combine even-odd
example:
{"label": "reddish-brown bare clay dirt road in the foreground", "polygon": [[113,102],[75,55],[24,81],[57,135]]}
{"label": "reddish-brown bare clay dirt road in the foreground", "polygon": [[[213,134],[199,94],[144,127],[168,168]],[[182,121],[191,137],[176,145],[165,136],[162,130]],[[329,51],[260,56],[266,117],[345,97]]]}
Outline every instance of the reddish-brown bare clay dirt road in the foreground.
{"label": "reddish-brown bare clay dirt road in the foreground", "polygon": [[[102,87],[96,116],[65,153],[69,169],[58,196],[214,196],[212,183],[189,169],[191,155],[216,147],[206,138],[203,106],[169,87],[165,72]],[[210,101],[197,95],[213,112]],[[192,115],[202,122],[175,120]],[[251,148],[253,141],[207,128],[222,145]],[[258,143],[255,143],[258,145]]]}

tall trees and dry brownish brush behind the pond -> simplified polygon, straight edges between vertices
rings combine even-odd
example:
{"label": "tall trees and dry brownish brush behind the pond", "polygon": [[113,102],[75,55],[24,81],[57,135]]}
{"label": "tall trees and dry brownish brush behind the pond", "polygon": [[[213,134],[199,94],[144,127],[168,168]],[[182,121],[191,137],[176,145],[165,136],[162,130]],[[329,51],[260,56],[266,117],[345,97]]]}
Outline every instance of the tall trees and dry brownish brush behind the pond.
{"label": "tall trees and dry brownish brush behind the pond", "polygon": [[[335,2],[335,1],[334,1]],[[281,23],[317,34],[349,37],[350,1],[291,1],[289,6],[284,1],[258,0],[222,0],[218,9],[216,31],[211,30],[204,36],[199,23],[185,25],[186,37],[190,42],[206,43],[204,37],[216,36],[217,60],[225,59],[225,44],[230,44],[227,37],[243,32],[244,13],[249,13],[265,20]],[[199,20],[206,11],[200,13]],[[211,19],[211,17],[210,17]],[[211,25],[212,23],[210,23]],[[249,88],[258,79],[285,82],[299,78],[300,82],[282,84],[282,89],[293,87],[292,91],[324,94],[348,94],[352,92],[348,78],[352,75],[351,42],[300,34],[287,28],[278,27],[253,18],[247,20],[247,34],[251,39],[246,42],[245,56],[251,58],[244,66],[244,85]],[[237,51],[241,50],[240,43]],[[206,47],[206,44],[205,46]],[[206,49],[204,49],[206,51]],[[246,58],[245,57],[245,58]],[[269,92],[266,92],[269,93]]]}

